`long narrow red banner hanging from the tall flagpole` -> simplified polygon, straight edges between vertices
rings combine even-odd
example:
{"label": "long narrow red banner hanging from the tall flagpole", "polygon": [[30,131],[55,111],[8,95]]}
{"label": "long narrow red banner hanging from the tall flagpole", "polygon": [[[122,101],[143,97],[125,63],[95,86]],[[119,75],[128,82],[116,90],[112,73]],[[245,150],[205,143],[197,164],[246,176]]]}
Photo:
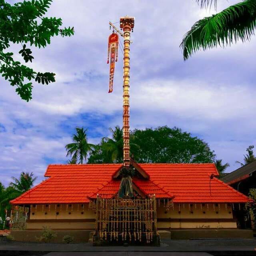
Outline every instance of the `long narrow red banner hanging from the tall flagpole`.
{"label": "long narrow red banner hanging from the tall flagpole", "polygon": [[107,63],[109,63],[109,57],[110,57],[109,90],[108,90],[109,93],[113,91],[115,61],[117,61],[117,56],[118,56],[118,34],[113,32],[108,37],[108,61],[107,61]]}

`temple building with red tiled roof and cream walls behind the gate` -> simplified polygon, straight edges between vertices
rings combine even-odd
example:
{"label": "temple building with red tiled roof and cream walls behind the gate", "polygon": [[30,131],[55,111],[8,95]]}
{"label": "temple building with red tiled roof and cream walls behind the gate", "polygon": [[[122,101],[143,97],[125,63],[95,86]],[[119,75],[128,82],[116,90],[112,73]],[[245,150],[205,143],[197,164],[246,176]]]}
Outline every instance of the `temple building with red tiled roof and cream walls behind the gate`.
{"label": "temple building with red tiled roof and cream walls behind the gate", "polygon": [[[214,164],[137,164],[130,161],[134,198],[156,200],[158,230],[237,230],[233,209],[248,197],[218,179]],[[97,198],[118,198],[122,164],[52,164],[46,180],[11,201],[29,208],[26,230],[96,229]],[[214,176],[214,177],[212,177]],[[232,231],[230,232],[232,234]],[[236,237],[239,236],[236,233]],[[193,236],[194,236],[193,235]],[[191,236],[191,234],[189,235]],[[192,236],[192,237],[193,237]],[[202,235],[200,235],[202,236]],[[174,238],[174,236],[173,236]]]}

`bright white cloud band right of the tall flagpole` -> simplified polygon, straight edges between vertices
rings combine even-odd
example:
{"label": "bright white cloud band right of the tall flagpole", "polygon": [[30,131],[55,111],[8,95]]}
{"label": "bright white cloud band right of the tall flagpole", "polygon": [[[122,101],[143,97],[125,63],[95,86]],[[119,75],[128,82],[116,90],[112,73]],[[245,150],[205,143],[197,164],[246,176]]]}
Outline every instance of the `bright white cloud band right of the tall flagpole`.
{"label": "bright white cloud band right of the tall flagpole", "polygon": [[193,80],[151,80],[133,90],[138,109],[172,113],[183,118],[220,122],[255,112],[252,88],[246,85],[209,85]]}

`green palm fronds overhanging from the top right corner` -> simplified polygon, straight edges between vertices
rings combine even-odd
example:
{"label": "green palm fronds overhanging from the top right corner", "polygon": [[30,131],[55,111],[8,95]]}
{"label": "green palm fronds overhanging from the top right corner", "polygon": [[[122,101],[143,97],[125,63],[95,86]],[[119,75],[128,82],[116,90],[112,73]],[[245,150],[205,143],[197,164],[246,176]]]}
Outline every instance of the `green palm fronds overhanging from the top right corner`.
{"label": "green palm fronds overhanging from the top right corner", "polygon": [[[217,0],[198,0],[201,7]],[[256,0],[244,0],[222,12],[198,20],[185,34],[180,47],[184,60],[198,50],[230,46],[233,42],[250,40],[256,28]]]}

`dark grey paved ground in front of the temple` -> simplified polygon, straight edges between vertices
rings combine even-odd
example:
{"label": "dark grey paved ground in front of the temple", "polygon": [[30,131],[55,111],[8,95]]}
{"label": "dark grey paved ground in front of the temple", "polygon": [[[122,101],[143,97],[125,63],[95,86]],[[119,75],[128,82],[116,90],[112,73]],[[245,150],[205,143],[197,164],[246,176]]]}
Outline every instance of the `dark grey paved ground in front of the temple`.
{"label": "dark grey paved ground in front of the temple", "polygon": [[[106,246],[94,247],[92,244],[39,244],[23,242],[0,242],[0,251],[43,251],[43,252],[210,252],[210,251],[255,251],[256,239],[200,239],[200,240],[162,240],[160,247],[152,246]],[[114,254],[114,255],[113,255]],[[105,255],[105,254],[104,254]],[[127,255],[127,254],[126,254]],[[139,255],[139,254],[138,254]]]}

